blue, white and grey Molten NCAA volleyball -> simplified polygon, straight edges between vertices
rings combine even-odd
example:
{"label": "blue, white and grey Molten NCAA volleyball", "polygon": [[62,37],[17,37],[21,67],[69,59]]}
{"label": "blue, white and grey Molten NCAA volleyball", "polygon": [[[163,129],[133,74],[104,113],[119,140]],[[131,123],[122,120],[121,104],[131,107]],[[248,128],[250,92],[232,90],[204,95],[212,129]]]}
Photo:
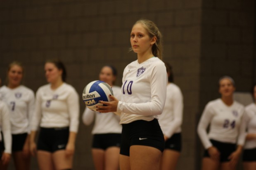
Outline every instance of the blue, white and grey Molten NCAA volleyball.
{"label": "blue, white and grey Molten NCAA volleyball", "polygon": [[111,101],[109,94],[113,95],[110,85],[104,81],[95,80],[83,89],[83,101],[90,110],[96,111],[96,106],[103,106],[99,101]]}

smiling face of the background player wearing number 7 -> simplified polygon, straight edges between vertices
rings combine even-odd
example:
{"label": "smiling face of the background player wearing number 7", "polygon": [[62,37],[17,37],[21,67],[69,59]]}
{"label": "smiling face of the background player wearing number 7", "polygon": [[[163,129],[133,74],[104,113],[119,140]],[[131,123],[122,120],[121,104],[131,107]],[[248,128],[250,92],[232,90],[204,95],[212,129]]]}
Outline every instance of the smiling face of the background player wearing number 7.
{"label": "smiling face of the background player wearing number 7", "polygon": [[13,65],[8,71],[8,84],[19,86],[23,77],[23,69],[18,65]]}

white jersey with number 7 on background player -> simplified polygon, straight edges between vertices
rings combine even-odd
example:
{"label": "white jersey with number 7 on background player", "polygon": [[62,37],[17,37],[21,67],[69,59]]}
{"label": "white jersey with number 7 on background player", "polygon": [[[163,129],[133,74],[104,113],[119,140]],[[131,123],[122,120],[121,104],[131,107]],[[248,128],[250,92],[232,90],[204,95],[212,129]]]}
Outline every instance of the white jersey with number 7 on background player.
{"label": "white jersey with number 7 on background player", "polygon": [[14,89],[4,85],[0,94],[10,110],[12,134],[30,133],[29,123],[35,110],[34,92],[24,85]]}

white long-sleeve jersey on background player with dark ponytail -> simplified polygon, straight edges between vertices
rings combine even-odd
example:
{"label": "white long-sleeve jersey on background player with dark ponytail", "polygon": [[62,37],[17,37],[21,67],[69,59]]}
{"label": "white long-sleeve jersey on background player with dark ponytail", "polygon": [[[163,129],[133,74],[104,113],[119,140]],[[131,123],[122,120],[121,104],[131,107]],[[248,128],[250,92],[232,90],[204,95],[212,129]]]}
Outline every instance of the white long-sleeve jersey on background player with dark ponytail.
{"label": "white long-sleeve jersey on background player with dark ponytail", "polygon": [[39,124],[44,128],[69,126],[69,131],[78,131],[79,100],[71,85],[63,83],[56,90],[52,90],[50,84],[47,84],[38,89],[31,131],[36,131]]}

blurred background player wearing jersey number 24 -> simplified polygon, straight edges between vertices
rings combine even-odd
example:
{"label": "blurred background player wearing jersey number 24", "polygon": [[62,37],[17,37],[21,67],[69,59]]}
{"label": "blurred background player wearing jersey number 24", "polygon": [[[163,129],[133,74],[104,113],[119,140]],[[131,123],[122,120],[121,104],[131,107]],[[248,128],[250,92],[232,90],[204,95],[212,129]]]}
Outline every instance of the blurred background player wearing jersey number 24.
{"label": "blurred background player wearing jersey number 24", "polygon": [[221,77],[221,98],[210,101],[204,108],[197,128],[206,149],[202,170],[235,170],[244,144],[245,129],[242,126],[244,106],[233,100],[234,91],[234,80],[229,76]]}

